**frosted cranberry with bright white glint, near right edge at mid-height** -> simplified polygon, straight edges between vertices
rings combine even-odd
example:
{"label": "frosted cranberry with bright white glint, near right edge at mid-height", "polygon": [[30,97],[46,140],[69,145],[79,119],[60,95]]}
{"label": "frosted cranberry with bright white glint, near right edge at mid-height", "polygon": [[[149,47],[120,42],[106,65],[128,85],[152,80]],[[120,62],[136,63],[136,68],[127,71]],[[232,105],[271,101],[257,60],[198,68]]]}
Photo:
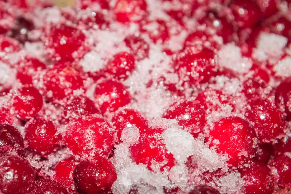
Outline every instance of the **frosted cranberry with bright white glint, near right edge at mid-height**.
{"label": "frosted cranberry with bright white glint, near right edge at mid-height", "polygon": [[245,117],[253,123],[259,142],[270,143],[284,134],[285,120],[282,113],[269,100],[250,102]]}

